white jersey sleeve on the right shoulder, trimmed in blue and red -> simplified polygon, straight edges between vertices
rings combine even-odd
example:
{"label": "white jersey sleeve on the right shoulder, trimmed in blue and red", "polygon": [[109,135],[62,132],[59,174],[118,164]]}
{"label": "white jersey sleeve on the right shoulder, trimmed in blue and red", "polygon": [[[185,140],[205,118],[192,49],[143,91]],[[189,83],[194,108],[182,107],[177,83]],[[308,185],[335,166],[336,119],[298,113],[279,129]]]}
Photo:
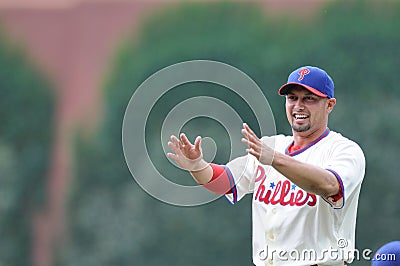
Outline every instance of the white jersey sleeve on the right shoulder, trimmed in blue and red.
{"label": "white jersey sleeve on the right shoulder, trimmed in blue and red", "polygon": [[365,174],[365,157],[361,148],[354,142],[340,141],[333,149],[332,155],[324,168],[336,177],[339,183],[337,195],[324,198],[333,208],[341,209],[346,199],[358,193]]}

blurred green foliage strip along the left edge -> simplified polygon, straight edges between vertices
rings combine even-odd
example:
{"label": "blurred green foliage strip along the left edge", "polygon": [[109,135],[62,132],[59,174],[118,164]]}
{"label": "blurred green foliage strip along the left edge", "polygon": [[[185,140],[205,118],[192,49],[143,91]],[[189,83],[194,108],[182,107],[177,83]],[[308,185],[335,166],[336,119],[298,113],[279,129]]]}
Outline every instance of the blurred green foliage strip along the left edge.
{"label": "blurred green foliage strip along the left edge", "polygon": [[0,32],[0,265],[31,265],[32,220],[45,204],[54,98],[22,47]]}

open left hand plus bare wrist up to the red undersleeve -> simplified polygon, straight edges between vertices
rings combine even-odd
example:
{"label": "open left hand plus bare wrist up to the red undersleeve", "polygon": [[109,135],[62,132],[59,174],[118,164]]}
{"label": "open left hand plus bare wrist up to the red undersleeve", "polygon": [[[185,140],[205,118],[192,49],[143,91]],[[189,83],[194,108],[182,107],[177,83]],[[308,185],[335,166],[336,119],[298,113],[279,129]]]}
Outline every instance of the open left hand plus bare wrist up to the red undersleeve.
{"label": "open left hand plus bare wrist up to the red undersleeve", "polygon": [[172,135],[168,146],[173,153],[168,153],[167,156],[182,169],[190,171],[197,183],[203,185],[211,180],[213,170],[210,164],[203,159],[201,137],[197,137],[192,144],[184,133],[180,134],[180,139]]}

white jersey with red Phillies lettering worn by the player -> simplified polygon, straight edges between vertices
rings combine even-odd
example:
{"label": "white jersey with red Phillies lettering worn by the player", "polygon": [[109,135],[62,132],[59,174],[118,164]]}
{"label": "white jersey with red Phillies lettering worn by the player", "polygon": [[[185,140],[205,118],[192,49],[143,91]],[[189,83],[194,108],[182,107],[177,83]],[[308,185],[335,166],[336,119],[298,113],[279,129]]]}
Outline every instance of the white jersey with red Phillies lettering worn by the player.
{"label": "white jersey with red Phillies lettering worn by the player", "polygon": [[277,135],[262,140],[278,152],[331,171],[338,179],[343,196],[325,199],[307,193],[271,166],[260,164],[252,155],[229,162],[228,176],[233,178],[235,187],[226,197],[236,203],[246,194],[253,196],[253,263],[289,266],[351,262],[358,198],[365,172],[360,147],[329,129],[293,153],[288,152],[293,143],[291,136]]}

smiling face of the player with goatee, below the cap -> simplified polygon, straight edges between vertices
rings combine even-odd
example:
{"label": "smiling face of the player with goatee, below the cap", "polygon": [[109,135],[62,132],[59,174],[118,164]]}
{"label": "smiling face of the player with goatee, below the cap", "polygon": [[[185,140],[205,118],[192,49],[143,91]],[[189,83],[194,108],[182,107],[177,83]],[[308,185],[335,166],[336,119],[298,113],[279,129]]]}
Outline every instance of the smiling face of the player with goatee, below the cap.
{"label": "smiling face of the player with goatee, below the cap", "polygon": [[301,86],[286,95],[286,116],[297,133],[312,134],[328,125],[328,115],[336,104],[334,98],[319,97]]}

